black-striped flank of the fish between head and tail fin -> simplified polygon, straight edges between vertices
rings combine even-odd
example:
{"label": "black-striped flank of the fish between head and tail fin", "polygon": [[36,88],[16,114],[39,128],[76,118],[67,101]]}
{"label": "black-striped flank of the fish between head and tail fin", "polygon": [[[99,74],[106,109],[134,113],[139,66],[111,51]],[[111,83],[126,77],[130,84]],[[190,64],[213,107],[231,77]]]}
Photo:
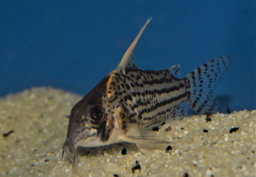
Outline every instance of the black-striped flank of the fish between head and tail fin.
{"label": "black-striped flank of the fish between head and tail fin", "polygon": [[[162,123],[181,102],[187,100],[185,79],[179,80],[168,70],[130,70],[126,75],[116,73],[112,78],[108,81],[111,82],[108,93],[112,93],[113,88],[115,91],[109,102],[118,100],[115,106],[125,106],[134,119],[133,123],[141,127]],[[128,123],[123,120],[123,128],[127,128]]]}

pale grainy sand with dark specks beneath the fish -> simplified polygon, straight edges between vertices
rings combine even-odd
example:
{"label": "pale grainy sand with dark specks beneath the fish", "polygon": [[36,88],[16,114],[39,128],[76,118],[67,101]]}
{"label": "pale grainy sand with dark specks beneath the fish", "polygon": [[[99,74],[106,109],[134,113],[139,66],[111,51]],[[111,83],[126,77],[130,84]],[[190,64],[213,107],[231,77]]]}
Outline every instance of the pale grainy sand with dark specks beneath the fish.
{"label": "pale grainy sand with dark specks beneath the fish", "polygon": [[[32,88],[0,98],[0,175],[73,176],[69,158],[64,156],[62,161],[61,156],[68,127],[65,115],[80,99],[81,96],[53,88]],[[144,155],[129,143],[80,148],[77,173],[255,176],[255,124],[256,111],[246,110],[217,113],[210,119],[200,115],[166,121],[157,133],[170,143],[162,145],[161,150]]]}

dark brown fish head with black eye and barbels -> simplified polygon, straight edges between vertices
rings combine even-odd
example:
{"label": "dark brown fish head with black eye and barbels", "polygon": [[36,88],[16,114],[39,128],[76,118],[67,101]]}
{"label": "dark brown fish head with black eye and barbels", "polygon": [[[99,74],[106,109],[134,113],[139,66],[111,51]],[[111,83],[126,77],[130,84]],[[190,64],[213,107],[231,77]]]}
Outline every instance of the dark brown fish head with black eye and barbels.
{"label": "dark brown fish head with black eye and barbels", "polygon": [[109,77],[103,78],[71,109],[63,154],[66,152],[72,162],[75,161],[77,147],[99,147],[112,143],[110,137],[117,130],[118,121],[108,102]]}

